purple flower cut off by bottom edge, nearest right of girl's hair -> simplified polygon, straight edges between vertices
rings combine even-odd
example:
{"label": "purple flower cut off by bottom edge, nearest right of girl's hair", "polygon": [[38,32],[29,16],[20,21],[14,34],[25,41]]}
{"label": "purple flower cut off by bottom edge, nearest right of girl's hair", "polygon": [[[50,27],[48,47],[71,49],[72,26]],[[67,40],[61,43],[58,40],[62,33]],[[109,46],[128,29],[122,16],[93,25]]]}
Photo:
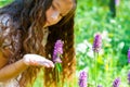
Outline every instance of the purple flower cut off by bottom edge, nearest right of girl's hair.
{"label": "purple flower cut off by bottom edge, nearest right of girl's hair", "polygon": [[80,73],[79,87],[87,87],[87,73],[84,71]]}

